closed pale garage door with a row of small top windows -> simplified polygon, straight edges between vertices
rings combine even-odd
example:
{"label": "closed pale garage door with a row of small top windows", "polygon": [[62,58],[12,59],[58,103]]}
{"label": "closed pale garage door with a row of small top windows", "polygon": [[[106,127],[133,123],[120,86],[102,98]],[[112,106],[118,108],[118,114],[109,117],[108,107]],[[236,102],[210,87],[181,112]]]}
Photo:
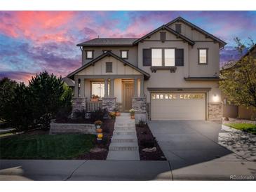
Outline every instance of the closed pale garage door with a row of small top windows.
{"label": "closed pale garage door with a row of small top windows", "polygon": [[205,119],[205,93],[151,93],[151,120]]}

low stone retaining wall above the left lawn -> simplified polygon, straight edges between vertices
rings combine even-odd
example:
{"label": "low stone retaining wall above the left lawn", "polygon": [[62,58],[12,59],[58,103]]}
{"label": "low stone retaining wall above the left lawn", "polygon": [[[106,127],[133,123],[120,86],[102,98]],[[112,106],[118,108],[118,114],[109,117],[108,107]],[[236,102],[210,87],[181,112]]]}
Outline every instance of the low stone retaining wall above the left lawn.
{"label": "low stone retaining wall above the left lawn", "polygon": [[86,123],[50,123],[51,134],[93,134],[97,135],[94,124]]}

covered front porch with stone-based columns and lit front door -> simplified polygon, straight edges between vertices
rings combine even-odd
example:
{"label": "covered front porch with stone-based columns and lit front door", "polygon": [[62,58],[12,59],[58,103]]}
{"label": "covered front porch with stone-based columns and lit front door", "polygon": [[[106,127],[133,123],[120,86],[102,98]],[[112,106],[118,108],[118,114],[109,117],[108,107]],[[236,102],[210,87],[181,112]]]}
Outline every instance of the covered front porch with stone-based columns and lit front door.
{"label": "covered front porch with stone-based columns and lit front door", "polygon": [[146,102],[143,75],[77,75],[74,80],[75,111],[95,111],[100,107],[128,112],[136,108],[138,100]]}

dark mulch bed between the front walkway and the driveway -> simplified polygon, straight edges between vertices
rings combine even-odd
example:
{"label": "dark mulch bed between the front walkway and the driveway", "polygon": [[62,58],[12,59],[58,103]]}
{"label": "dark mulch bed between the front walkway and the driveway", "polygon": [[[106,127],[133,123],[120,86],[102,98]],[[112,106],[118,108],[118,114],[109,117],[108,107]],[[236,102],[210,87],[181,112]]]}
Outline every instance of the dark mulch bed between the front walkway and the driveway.
{"label": "dark mulch bed between the front walkway and the driveway", "polygon": [[[139,144],[140,160],[166,160],[156,138],[152,135],[148,125],[140,127],[136,125],[137,142]],[[156,147],[156,151],[145,152],[142,149]]]}

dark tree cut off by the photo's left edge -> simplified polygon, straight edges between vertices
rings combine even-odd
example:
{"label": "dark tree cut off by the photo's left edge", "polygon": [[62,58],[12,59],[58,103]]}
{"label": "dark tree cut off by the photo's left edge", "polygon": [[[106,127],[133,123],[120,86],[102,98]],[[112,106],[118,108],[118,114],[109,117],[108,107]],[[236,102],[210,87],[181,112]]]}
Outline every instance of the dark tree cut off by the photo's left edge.
{"label": "dark tree cut off by the photo's left edge", "polygon": [[10,78],[4,77],[0,81],[0,119],[6,120],[6,108],[14,97],[14,90],[17,86],[16,81],[12,81]]}

